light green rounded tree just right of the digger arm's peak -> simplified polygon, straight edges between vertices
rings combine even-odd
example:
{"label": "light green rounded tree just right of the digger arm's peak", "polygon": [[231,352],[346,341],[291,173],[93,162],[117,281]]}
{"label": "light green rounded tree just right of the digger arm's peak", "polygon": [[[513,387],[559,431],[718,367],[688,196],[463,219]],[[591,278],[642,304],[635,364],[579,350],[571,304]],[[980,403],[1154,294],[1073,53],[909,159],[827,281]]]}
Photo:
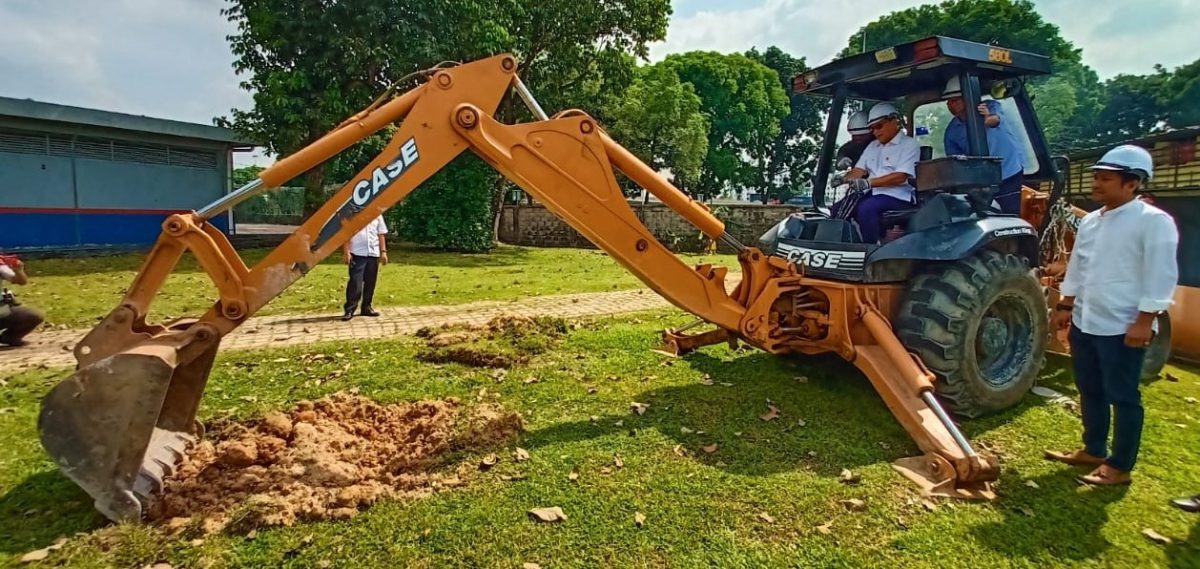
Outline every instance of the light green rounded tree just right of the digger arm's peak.
{"label": "light green rounded tree just right of the digger arm's peak", "polygon": [[637,71],[634,84],[606,114],[608,132],[655,170],[670,169],[688,190],[700,180],[708,152],[708,118],[695,88],[658,64]]}

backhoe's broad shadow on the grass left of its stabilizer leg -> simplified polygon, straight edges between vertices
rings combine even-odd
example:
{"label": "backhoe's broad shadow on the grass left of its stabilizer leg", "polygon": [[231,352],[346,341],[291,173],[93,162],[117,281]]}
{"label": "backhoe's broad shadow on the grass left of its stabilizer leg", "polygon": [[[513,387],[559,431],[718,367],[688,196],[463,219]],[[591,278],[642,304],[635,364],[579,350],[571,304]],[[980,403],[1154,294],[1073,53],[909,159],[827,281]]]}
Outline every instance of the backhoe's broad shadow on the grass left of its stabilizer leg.
{"label": "backhoe's broad shadow on the grass left of its stabilizer leg", "polygon": [[[694,353],[683,361],[707,373],[713,385],[648,390],[635,396],[637,402],[650,405],[642,417],[623,413],[558,424],[528,433],[522,443],[536,448],[620,433],[637,436],[653,429],[686,448],[695,460],[726,472],[770,475],[805,469],[829,478],[844,468],[920,454],[870,382],[836,357],[780,358],[760,352],[722,360]],[[799,376],[808,381],[802,383]],[[768,401],[780,409],[772,421],[761,418]],[[1012,421],[1034,405],[1031,399],[1003,414],[968,421],[962,429],[972,437]],[[718,453],[701,450],[710,443],[719,444]]]}

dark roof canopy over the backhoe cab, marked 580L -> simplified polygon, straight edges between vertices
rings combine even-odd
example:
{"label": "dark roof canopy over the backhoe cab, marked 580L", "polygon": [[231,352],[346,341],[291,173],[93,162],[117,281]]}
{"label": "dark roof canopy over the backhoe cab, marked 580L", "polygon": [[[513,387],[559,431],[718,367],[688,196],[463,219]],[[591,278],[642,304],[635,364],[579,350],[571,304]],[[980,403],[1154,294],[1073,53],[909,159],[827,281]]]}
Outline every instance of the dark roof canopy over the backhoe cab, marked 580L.
{"label": "dark roof canopy over the backhoe cab, marked 580L", "polygon": [[934,36],[860,53],[808,70],[792,82],[797,95],[833,96],[839,84],[846,96],[889,101],[918,91],[942,90],[964,68],[984,84],[1050,73],[1050,58],[998,46]]}

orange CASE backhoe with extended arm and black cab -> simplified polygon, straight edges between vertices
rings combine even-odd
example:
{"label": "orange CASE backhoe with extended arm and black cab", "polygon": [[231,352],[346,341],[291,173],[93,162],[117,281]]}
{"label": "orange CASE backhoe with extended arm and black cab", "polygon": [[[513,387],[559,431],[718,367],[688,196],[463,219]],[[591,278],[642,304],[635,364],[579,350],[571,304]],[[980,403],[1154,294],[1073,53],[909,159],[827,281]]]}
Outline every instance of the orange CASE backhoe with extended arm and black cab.
{"label": "orange CASE backhoe with extended arm and black cab", "polygon": [[[1040,170],[1033,178],[1054,178],[1020,89],[1021,77],[1045,73],[1048,65],[1033,54],[935,37],[805,72],[797,78],[797,96],[832,96],[834,103],[817,186],[829,174],[848,98],[890,100],[911,109],[936,100],[950,76],[961,77],[972,101],[984,86],[1008,89],[1034,139]],[[101,513],[140,519],[202,436],[197,408],[223,336],[468,150],[658,294],[714,327],[691,335],[668,330],[672,349],[740,341],[773,354],[836,353],[863,371],[923,451],[898,461],[901,473],[932,495],[992,496],[996,461],[971,447],[943,402],[968,417],[1014,405],[1040,367],[1048,327],[1032,270],[1039,264],[1036,224],[979,208],[979,193],[994,188],[1000,175],[996,160],[986,156],[982,125],[968,125],[974,156],[918,164],[917,204],[887,220],[904,229],[902,236],[862,242],[852,223],[821,214],[817,196],[814,211],[781,221],[751,246],[727,234],[704,204],[647,167],[586,113],[547,116],[516,70],[511,55],[430,70],[420,86],[382,97],[256,181],[163,222],[125,298],[76,346],[74,375],[46,396],[38,419],[43,447]],[[510,89],[535,121],[497,121],[497,106]],[[383,152],[254,266],[247,268],[209,222],[394,124],[398,128]],[[737,251],[742,281],[732,293],[725,287],[727,269],[688,266],[654,239],[614,170]],[[1031,220],[1039,223],[1054,196],[1026,190],[1026,198]],[[199,260],[220,298],[199,318],[146,322],[185,251]]]}

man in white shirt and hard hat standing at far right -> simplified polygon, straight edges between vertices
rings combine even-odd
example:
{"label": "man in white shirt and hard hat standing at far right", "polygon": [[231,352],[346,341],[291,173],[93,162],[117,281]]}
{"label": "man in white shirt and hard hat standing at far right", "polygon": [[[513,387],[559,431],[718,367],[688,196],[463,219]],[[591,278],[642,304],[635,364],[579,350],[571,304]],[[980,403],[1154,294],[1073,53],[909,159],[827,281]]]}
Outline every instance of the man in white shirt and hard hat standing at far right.
{"label": "man in white shirt and hard hat standing at far right", "polygon": [[1145,417],[1138,391],[1142,360],[1154,336],[1154,317],[1170,307],[1178,278],[1175,221],[1134,198],[1153,175],[1153,164],[1145,149],[1123,145],[1092,167],[1092,199],[1103,208],[1080,222],[1062,282],[1063,298],[1055,307],[1054,325],[1070,327],[1084,448],[1046,451],[1046,459],[1094,467],[1079,478],[1085,484],[1132,480]]}

